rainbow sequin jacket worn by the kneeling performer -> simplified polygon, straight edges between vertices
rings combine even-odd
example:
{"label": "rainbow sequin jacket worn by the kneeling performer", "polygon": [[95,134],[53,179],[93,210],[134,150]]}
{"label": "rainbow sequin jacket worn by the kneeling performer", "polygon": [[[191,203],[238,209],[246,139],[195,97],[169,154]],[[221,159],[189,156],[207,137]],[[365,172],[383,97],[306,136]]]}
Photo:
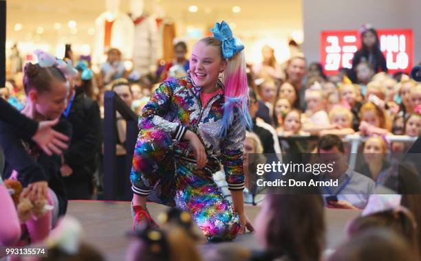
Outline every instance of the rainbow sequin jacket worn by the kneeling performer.
{"label": "rainbow sequin jacket worn by the kneeling performer", "polygon": [[[222,82],[219,85],[224,88]],[[189,76],[165,80],[140,113],[140,132],[142,133],[142,129],[161,128],[173,138],[177,157],[194,159],[191,146],[188,141],[183,140],[187,130],[193,131],[204,144],[208,160],[216,160],[218,170],[219,162],[224,166],[228,188],[243,190],[246,128],[234,111],[233,122],[226,137],[220,137],[224,94],[213,96],[203,107],[199,94],[200,87],[195,86]]]}

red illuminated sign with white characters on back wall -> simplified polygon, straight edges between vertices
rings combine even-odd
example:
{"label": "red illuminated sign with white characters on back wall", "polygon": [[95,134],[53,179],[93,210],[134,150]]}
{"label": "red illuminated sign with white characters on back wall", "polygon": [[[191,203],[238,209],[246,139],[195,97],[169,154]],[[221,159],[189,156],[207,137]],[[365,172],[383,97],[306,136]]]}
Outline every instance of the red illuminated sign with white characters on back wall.
{"label": "red illuminated sign with white characters on back wall", "polygon": [[[408,73],[413,66],[412,30],[377,30],[377,33],[389,73]],[[360,45],[358,30],[321,32],[320,60],[325,73],[330,75],[339,68],[351,68],[352,58]]]}

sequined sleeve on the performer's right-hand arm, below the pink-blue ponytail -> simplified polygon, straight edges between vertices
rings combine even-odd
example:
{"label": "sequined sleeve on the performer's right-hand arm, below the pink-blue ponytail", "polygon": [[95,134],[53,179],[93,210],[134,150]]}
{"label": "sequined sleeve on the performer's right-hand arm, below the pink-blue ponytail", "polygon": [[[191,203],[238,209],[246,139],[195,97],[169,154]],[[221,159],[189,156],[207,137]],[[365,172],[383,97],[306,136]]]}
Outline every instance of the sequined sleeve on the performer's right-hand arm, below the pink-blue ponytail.
{"label": "sequined sleeve on the performer's right-hand arm, below the pink-blue ponytail", "polygon": [[235,113],[233,123],[228,128],[221,145],[222,165],[224,165],[228,190],[244,190],[244,139],[246,139],[246,126],[241,123],[238,114]]}

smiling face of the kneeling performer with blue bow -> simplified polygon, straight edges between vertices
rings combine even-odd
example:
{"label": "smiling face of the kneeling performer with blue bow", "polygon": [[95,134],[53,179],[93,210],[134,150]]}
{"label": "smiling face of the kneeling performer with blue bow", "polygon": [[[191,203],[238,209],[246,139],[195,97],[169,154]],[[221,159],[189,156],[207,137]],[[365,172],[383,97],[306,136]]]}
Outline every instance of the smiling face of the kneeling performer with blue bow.
{"label": "smiling face of the kneeling performer with blue bow", "polygon": [[213,90],[220,71],[224,71],[226,60],[222,59],[218,47],[199,41],[193,47],[190,58],[191,79],[204,90]]}

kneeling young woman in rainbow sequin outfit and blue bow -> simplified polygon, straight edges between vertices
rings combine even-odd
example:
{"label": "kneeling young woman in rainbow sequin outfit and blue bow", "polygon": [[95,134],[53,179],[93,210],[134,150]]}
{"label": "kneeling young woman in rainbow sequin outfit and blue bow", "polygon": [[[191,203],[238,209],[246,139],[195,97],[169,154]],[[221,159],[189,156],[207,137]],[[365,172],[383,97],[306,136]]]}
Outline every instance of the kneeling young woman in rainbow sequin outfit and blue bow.
{"label": "kneeling young woman in rainbow sequin outfit and blue bow", "polygon": [[[224,21],[211,32],[193,47],[189,75],[164,81],[142,109],[130,176],[133,229],[156,225],[149,200],[189,212],[209,241],[254,230],[242,193],[251,126],[244,45]],[[233,206],[213,181],[221,163]]]}

